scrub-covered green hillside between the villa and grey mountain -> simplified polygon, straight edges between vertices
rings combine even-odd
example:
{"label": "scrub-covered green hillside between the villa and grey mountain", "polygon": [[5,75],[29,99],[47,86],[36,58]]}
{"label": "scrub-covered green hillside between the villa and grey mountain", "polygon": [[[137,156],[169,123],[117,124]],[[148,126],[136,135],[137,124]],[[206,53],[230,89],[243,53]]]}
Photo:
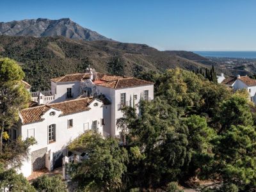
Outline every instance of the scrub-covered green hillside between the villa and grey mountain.
{"label": "scrub-covered green hillside between the villa and grey mountain", "polygon": [[180,67],[196,70],[209,67],[148,45],[113,41],[83,41],[57,37],[0,36],[0,56],[20,63],[26,81],[33,89],[49,88],[52,77],[84,72],[93,67],[97,72],[136,76],[141,71],[161,72]]}

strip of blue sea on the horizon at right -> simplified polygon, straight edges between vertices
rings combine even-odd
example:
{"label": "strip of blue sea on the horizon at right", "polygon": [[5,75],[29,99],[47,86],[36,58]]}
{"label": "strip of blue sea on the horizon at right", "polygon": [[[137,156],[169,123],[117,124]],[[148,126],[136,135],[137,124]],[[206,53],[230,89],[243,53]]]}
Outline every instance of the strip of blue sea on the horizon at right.
{"label": "strip of blue sea on the horizon at right", "polygon": [[193,51],[204,57],[256,59],[256,51]]}

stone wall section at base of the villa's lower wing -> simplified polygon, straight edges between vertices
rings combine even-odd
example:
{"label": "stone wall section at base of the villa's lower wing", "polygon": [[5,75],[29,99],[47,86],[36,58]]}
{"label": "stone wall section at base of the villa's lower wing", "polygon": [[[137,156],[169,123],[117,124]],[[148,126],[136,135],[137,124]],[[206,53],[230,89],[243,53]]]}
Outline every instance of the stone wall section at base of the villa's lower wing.
{"label": "stone wall section at base of the villa's lower wing", "polygon": [[41,148],[31,152],[32,161],[32,171],[42,170],[45,168],[45,153],[47,152],[47,147]]}

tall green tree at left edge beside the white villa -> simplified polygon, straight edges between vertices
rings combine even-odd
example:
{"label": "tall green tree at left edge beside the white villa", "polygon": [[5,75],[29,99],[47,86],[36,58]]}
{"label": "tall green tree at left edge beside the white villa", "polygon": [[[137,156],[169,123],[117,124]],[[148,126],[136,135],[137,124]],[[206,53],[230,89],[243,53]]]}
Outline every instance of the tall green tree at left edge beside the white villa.
{"label": "tall green tree at left edge beside the white villa", "polygon": [[4,130],[19,120],[19,110],[26,108],[30,100],[29,93],[20,83],[23,78],[24,72],[15,61],[0,59],[0,154]]}

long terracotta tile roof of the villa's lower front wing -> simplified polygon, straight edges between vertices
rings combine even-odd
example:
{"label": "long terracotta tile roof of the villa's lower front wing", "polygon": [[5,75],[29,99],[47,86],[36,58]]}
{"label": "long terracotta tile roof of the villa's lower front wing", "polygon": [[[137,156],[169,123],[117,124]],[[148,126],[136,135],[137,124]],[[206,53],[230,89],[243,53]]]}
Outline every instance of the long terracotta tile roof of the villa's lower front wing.
{"label": "long terracotta tile roof of the villa's lower front wing", "polygon": [[58,102],[55,104],[47,104],[36,106],[34,108],[22,109],[20,116],[22,118],[22,124],[29,124],[32,122],[38,122],[43,120],[42,115],[51,108],[61,111],[61,115],[68,115],[72,113],[79,113],[82,111],[89,111],[88,105],[93,101],[92,97],[86,97],[82,99],[68,100],[64,102]]}

